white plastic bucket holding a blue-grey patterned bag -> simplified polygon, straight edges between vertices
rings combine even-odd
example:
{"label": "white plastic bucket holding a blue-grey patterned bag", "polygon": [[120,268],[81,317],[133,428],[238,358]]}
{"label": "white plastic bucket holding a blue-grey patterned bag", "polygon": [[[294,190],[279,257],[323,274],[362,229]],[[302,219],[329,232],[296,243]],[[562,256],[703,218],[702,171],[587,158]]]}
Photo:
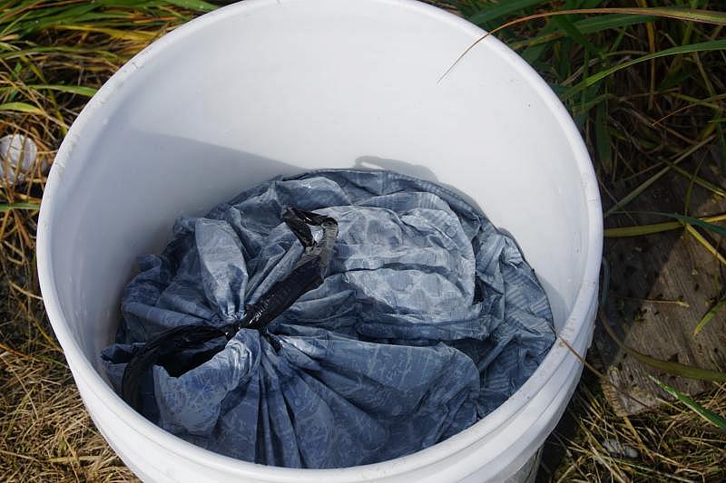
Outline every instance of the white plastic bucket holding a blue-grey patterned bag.
{"label": "white plastic bucket holding a blue-grey patterned bag", "polygon": [[[416,454],[348,469],[280,469],[195,447],[106,382],[135,257],[279,174],[368,166],[465,193],[511,232],[559,335],[593,330],[600,198],[582,139],[546,83],[494,37],[409,0],[249,0],[184,25],[127,63],[55,158],[38,229],[45,306],[96,426],[154,481],[484,481],[523,478],[582,370],[555,343],[535,375],[472,428]],[[523,468],[524,467],[524,468]],[[517,472],[522,469],[522,471]]]}

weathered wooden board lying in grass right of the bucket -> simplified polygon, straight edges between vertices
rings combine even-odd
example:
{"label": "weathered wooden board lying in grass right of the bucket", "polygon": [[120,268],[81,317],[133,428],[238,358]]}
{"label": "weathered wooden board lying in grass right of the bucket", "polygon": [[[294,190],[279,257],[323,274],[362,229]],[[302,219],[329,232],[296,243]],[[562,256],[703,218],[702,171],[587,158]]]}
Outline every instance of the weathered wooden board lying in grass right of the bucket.
{"label": "weathered wooden board lying in grass right of the bucket", "polygon": [[[723,181],[715,171],[702,169],[701,176],[715,183]],[[670,173],[627,208],[683,213],[689,184],[689,179]],[[634,186],[619,187],[616,196],[622,197]],[[694,186],[690,212],[699,216],[724,213],[726,199]],[[632,218],[618,215],[608,217],[605,226],[662,221],[670,220],[642,214],[632,214]],[[718,237],[702,229],[700,232],[713,246],[718,246]],[[701,333],[693,335],[703,314],[726,296],[726,266],[683,229],[645,237],[608,238],[604,256],[611,267],[605,308],[624,343],[658,359],[726,371],[726,310],[717,314]],[[681,301],[688,306],[668,301]],[[604,371],[628,393],[603,384],[603,391],[620,414],[634,414],[667,399],[648,374],[688,394],[715,387],[711,382],[675,378],[633,360],[613,342],[601,324],[597,323],[594,345],[603,359]]]}

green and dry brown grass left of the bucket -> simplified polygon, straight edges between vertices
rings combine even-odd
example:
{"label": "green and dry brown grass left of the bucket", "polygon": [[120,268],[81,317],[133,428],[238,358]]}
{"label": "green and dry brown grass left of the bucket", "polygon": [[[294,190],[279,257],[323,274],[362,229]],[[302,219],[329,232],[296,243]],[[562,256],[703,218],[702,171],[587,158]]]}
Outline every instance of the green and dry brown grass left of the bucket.
{"label": "green and dry brown grass left of the bucket", "polygon": [[[134,53],[191,17],[179,8],[136,4],[105,9],[116,17],[103,21],[74,17],[70,9],[87,5],[78,0],[0,5],[0,104],[34,108],[0,111],[0,136],[25,135],[39,150],[25,183],[0,180],[0,204],[40,202],[42,161],[52,162],[87,101],[39,85],[100,87]],[[22,11],[6,17],[13,9]],[[40,21],[49,26],[35,31],[33,19],[14,26],[23,14],[44,14]],[[75,29],[99,26],[112,30]],[[0,211],[0,479],[135,480],[93,426],[44,314],[35,271],[36,222],[36,211]]]}

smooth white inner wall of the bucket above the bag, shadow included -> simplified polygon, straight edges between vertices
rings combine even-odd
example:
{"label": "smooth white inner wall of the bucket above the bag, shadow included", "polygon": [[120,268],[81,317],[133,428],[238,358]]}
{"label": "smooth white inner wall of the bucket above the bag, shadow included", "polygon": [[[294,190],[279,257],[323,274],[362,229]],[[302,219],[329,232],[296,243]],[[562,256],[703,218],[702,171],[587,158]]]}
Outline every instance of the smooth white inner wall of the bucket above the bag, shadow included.
{"label": "smooth white inner wall of the bucket above the bag, shadow included", "polygon": [[471,32],[420,9],[402,15],[395,1],[315,2],[327,7],[219,16],[142,55],[70,140],[56,167],[65,209],[52,220],[53,276],[96,367],[135,257],[160,251],[175,217],[317,168],[393,169],[466,194],[515,236],[564,324],[588,220],[577,143],[544,82],[525,82],[493,37],[439,82]]}

